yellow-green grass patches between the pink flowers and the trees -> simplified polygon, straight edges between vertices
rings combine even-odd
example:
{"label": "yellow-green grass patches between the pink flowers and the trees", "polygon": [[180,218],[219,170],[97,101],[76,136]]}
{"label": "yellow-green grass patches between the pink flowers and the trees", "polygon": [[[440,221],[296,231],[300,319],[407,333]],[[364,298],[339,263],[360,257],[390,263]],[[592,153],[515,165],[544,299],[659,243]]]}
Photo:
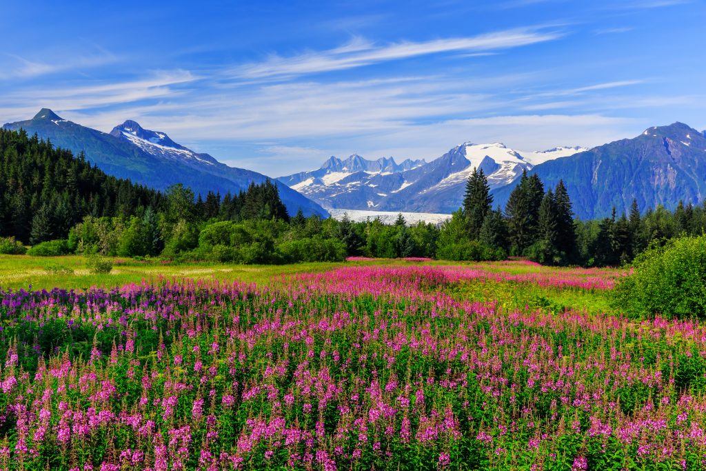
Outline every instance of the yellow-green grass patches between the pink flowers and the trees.
{"label": "yellow-green grass patches between the pink flowers and the trees", "polygon": [[[228,263],[162,263],[159,260],[136,261],[112,258],[113,269],[107,274],[91,273],[83,256],[11,256],[0,255],[0,288],[50,290],[61,287],[67,290],[87,290],[90,287],[110,288],[142,280],[157,282],[162,279],[218,280],[254,282],[268,285],[282,276],[297,273],[318,273],[342,266],[366,265],[466,265],[491,272],[511,275],[527,273],[572,273],[570,268],[551,268],[532,265],[504,265],[499,263],[459,263],[446,261],[409,262],[378,259],[375,261],[346,261],[338,263],[297,263],[279,266],[235,265]],[[529,283],[471,280],[448,288],[450,294],[460,299],[487,301],[496,299],[508,308],[545,309],[560,312],[579,309],[590,313],[611,310],[608,292],[587,291],[579,288],[539,287]]]}

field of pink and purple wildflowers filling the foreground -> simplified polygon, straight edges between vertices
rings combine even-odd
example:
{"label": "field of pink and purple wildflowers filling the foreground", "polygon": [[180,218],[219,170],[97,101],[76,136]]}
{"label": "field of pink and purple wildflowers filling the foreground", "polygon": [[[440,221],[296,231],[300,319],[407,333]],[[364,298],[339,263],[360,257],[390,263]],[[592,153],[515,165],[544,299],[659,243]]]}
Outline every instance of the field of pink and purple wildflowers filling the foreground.
{"label": "field of pink and purple wildflowers filling the foreground", "polygon": [[705,467],[706,328],[610,309],[620,270],[202,269],[6,278],[0,467]]}

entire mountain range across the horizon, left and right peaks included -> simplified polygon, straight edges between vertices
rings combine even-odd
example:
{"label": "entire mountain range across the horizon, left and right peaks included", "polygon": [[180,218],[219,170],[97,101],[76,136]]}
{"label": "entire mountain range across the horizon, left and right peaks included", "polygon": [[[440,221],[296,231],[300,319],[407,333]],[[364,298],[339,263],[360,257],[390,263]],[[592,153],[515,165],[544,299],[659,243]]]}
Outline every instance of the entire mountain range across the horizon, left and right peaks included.
{"label": "entire mountain range across the horizon, left and right peaks included", "polygon": [[[83,153],[114,177],[155,189],[183,183],[195,193],[222,195],[246,189],[268,177],[229,167],[211,155],[196,153],[166,133],[125,121],[110,133],[61,119],[42,109],[28,121],[5,124],[49,139],[57,147]],[[575,215],[606,217],[612,208],[627,211],[633,199],[642,210],[679,201],[706,199],[706,131],[683,123],[655,126],[639,136],[592,149],[558,147],[541,152],[513,150],[502,143],[462,143],[434,160],[395,162],[360,155],[330,157],[320,168],[279,177],[277,185],[289,213],[327,216],[327,210],[452,213],[462,205],[465,183],[474,168],[488,177],[493,205],[505,206],[522,172],[537,174],[568,190]]]}

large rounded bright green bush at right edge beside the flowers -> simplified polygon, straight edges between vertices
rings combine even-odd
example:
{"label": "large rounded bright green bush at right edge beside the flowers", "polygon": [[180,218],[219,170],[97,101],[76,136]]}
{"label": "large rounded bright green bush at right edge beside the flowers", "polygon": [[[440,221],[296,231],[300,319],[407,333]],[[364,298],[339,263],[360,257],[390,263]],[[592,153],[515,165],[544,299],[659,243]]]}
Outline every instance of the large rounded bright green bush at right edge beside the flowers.
{"label": "large rounded bright green bush at right edge beside the flowers", "polygon": [[633,273],[616,286],[614,302],[637,316],[706,316],[706,235],[642,252]]}

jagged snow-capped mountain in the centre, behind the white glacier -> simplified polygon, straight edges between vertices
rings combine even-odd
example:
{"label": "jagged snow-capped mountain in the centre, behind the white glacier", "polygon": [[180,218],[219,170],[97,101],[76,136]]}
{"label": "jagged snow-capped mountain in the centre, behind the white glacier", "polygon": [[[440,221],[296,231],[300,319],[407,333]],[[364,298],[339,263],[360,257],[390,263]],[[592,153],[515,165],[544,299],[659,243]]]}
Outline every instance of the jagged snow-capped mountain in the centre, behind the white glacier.
{"label": "jagged snow-capped mountain in the centre, behind the white glacier", "polygon": [[474,168],[483,169],[494,189],[534,165],[583,150],[559,147],[522,152],[502,143],[463,143],[431,162],[405,160],[397,165],[392,157],[330,157],[319,169],[279,180],[328,209],[448,213],[460,206]]}

